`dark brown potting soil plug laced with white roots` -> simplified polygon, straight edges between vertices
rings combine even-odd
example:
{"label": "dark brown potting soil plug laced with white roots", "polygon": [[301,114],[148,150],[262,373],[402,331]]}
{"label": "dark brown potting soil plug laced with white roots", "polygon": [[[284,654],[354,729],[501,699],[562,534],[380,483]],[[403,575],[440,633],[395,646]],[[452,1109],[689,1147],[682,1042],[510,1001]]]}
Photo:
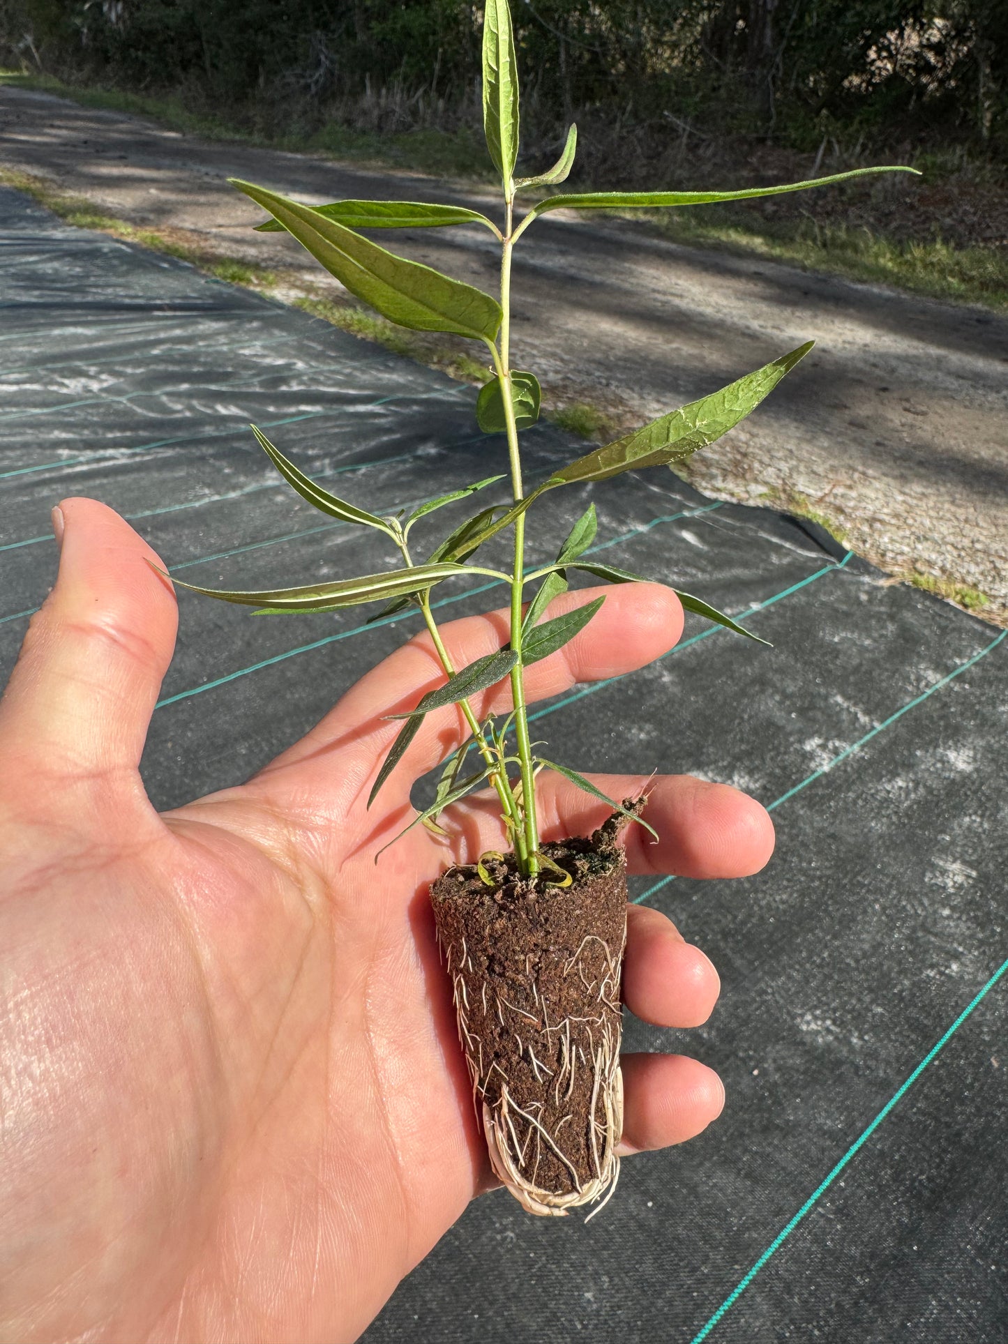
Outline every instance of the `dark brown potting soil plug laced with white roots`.
{"label": "dark brown potting soil plug laced with white roots", "polygon": [[625,824],[543,845],[569,887],[523,878],[513,855],[484,860],[493,886],[465,864],[431,887],[477,1113],[504,1102],[521,1175],[554,1195],[598,1179],[620,1137],[605,1079],[620,1054]]}

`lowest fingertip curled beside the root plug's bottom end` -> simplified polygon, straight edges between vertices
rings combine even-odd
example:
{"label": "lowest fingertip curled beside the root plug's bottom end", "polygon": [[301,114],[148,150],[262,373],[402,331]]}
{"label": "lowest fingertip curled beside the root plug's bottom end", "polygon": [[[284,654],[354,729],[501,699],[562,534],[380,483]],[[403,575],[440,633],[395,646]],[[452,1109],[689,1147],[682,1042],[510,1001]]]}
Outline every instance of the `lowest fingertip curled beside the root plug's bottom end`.
{"label": "lowest fingertip curled beside the root plug's bottom end", "polygon": [[687,1055],[624,1055],[624,1137],[620,1153],[695,1138],[724,1106],[724,1085]]}

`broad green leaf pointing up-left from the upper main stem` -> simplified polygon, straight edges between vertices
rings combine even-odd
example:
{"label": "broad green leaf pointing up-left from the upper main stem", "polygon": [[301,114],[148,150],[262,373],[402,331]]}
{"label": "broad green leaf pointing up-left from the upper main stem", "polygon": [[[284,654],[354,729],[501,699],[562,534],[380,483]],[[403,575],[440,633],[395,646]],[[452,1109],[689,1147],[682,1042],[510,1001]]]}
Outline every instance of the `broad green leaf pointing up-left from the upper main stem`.
{"label": "broad green leaf pointing up-left from the upper main stem", "polygon": [[351,294],[371,304],[388,321],[472,340],[493,340],[497,335],[500,304],[482,290],[396,257],[335,219],[325,219],[310,206],[237,177],[230,181],[267,210]]}

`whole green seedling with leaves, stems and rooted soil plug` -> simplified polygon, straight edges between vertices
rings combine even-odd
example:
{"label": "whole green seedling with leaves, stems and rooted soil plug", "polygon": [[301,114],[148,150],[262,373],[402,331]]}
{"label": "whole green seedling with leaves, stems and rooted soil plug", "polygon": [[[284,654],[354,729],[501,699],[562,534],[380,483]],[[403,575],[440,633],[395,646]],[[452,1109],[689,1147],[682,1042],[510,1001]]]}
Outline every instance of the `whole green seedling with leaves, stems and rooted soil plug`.
{"label": "whole green seedling with leaves, stems and rooted soil plug", "polygon": [[[563,648],[602,605],[602,598],[597,598],[560,616],[548,616],[550,602],[566,591],[571,570],[612,583],[633,583],[638,575],[587,556],[597,531],[594,504],[574,524],[551,564],[527,569],[526,516],[544,495],[567,485],[685,461],[749,415],[809,352],[812,341],[710,396],[594,449],[528,489],[521,472],[519,434],[539,417],[540,387],[535,374],[513,368],[511,363],[513,250],[526,231],[554,210],[702,206],[802,191],[895,169],[864,168],[745,191],[546,195],[521,214],[516,211],[521,194],[542,194],[570,173],[577,128],[570,128],[563,153],[548,172],[515,177],[519,87],[507,0],[485,0],[482,109],[487,145],[503,187],[500,224],[458,206],[339,200],[312,207],[247,181],[234,180],[234,185],[270,215],[259,230],[286,230],[345,289],[388,321],[414,331],[450,332],[485,347],[493,378],[480,390],[476,418],[485,433],[507,435],[512,504],[480,509],[418,563],[411,540],[414,524],[493,485],[503,474],[450,491],[409,512],[379,516],[337,499],[309,480],[255,429],[263,450],[298,495],[323,513],[380,532],[396,555],[398,567],[293,589],[233,593],[195,587],[195,591],[261,612],[333,612],[367,602],[384,602],[380,616],[409,606],[419,609],[445,681],[413,710],[396,716],[403,724],[374,781],[368,806],[425,716],[446,706],[460,706],[469,738],[445,762],[434,802],[418,813],[407,829],[423,824],[445,835],[442,820],[452,804],[487,784],[496,792],[509,851],[488,851],[472,856],[470,864],[449,868],[433,883],[431,902],[454,991],[460,1042],[493,1168],[530,1212],[562,1215],[579,1204],[605,1202],[620,1172],[620,976],[626,938],[626,874],[620,837],[629,824],[652,828],[642,817],[644,797],[606,798],[577,770],[539,753],[539,745],[530,739],[523,683],[527,667]],[[499,242],[501,266],[496,297],[398,257],[358,231],[454,224],[480,224]],[[513,540],[509,573],[474,563],[480,548],[508,530]],[[430,594],[439,583],[473,575],[489,575],[508,585],[511,637],[497,652],[456,668],[441,638]],[[532,595],[526,607],[530,585]],[[677,595],[688,612],[757,638],[707,602],[687,593]],[[480,722],[472,698],[505,680],[511,683],[511,714],[503,723]],[[509,745],[512,732],[513,747]],[[577,788],[605,801],[612,809],[610,820],[589,839],[543,844],[535,788],[540,769],[558,771]]]}

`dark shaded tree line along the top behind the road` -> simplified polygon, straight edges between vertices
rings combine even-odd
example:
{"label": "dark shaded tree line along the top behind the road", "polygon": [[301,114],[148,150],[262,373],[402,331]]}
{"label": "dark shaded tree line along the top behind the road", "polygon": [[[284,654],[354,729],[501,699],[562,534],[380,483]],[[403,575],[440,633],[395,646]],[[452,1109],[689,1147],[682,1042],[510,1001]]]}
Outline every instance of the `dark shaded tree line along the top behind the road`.
{"label": "dark shaded tree line along the top behind the road", "polygon": [[[1008,145],[1008,0],[512,0],[526,86],[556,122],[632,118],[814,142],[823,128]],[[462,0],[0,0],[5,62],[278,118],[395,90],[473,101]]]}

